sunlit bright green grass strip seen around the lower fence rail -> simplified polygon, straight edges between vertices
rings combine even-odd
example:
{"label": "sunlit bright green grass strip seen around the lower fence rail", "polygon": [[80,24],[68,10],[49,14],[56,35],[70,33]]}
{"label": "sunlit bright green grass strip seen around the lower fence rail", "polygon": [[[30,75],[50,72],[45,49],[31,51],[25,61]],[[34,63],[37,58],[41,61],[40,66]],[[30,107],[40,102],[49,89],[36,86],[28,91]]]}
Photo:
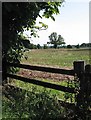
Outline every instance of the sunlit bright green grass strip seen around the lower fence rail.
{"label": "sunlit bright green grass strip seen around the lower fence rail", "polygon": [[[48,82],[48,83],[53,83],[53,84],[57,84],[57,85],[61,85],[61,86],[65,86],[67,87],[67,81],[52,81],[50,79],[42,79],[43,82]],[[14,86],[17,86],[17,87],[20,87],[22,89],[25,89],[27,91],[31,91],[32,88],[36,88],[37,89],[37,92],[40,93],[40,91],[44,91],[44,89],[46,89],[47,91],[50,91],[50,94],[51,95],[56,95],[58,97],[58,99],[62,100],[62,101],[65,101],[65,95],[68,94],[68,93],[65,93],[63,91],[59,91],[59,90],[55,90],[55,89],[50,89],[50,88],[45,88],[45,87],[42,87],[42,86],[38,86],[38,85],[34,85],[34,84],[31,84],[31,83],[25,83],[25,82],[22,82],[22,81],[14,81],[14,82],[11,82],[11,85],[14,85]],[[74,84],[72,84],[72,87],[74,87]],[[68,98],[66,101],[67,102],[73,102],[74,103],[74,94],[72,93],[69,93],[71,96],[72,96],[72,101],[70,98]]]}

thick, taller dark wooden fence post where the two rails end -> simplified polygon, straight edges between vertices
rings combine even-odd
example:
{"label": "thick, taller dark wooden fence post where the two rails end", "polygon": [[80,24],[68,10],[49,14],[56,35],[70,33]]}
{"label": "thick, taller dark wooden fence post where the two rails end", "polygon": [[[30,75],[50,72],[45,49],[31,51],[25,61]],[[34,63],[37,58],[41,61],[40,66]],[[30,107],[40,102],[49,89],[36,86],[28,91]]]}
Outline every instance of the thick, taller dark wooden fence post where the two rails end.
{"label": "thick, taller dark wooden fence post where the two rails end", "polygon": [[77,104],[76,104],[76,111],[77,111],[77,114],[78,116],[80,116],[82,113],[81,113],[81,106],[83,104],[83,89],[84,89],[84,76],[82,73],[84,73],[84,61],[74,61],[73,63],[74,65],[74,72],[75,72],[75,75],[77,76],[77,79],[79,81],[79,91],[77,93],[77,96],[76,96],[76,101],[77,101]]}

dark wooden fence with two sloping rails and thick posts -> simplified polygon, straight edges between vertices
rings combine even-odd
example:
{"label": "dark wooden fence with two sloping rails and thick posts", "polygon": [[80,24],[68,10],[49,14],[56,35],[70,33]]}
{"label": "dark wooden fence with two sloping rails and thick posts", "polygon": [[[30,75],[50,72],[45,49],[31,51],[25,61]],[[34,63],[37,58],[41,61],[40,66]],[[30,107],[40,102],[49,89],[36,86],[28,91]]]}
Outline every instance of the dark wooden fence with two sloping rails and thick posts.
{"label": "dark wooden fence with two sloping rails and thick posts", "polygon": [[[10,77],[16,80],[32,83],[32,84],[43,86],[46,88],[60,90],[63,92],[68,92],[68,93],[75,93],[77,94],[76,105],[78,107],[82,106],[82,104],[84,105],[85,102],[88,102],[89,96],[91,94],[90,93],[91,87],[89,87],[91,85],[91,80],[90,80],[91,79],[91,65],[90,64],[85,65],[84,61],[74,61],[73,70],[66,70],[66,69],[52,68],[52,67],[32,66],[32,65],[17,64],[17,63],[5,63],[5,62],[3,63],[3,66],[4,66],[3,67],[3,79],[7,79],[8,77]],[[18,68],[29,69],[29,70],[37,70],[37,71],[43,71],[43,72],[71,75],[71,76],[77,77],[80,83],[79,90],[76,90],[75,88],[56,85],[53,83],[43,82],[43,81],[36,80],[36,79],[25,78],[25,77],[21,77],[15,74],[10,74],[7,72],[8,67],[18,67]]]}

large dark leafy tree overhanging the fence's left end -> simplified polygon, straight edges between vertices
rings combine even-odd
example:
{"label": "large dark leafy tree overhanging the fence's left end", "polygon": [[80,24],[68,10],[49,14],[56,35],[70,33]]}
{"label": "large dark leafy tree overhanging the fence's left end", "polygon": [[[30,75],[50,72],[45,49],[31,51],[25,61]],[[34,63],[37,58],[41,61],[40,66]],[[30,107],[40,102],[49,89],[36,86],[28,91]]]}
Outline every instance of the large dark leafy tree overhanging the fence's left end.
{"label": "large dark leafy tree overhanging the fence's left end", "polygon": [[[3,2],[2,3],[2,57],[3,63],[20,63],[24,53],[21,43],[21,33],[30,30],[30,35],[36,37],[36,31],[47,28],[40,22],[41,27],[35,25],[37,17],[51,17],[59,14],[61,2]],[[43,14],[40,11],[43,10]],[[4,67],[3,67],[4,70]]]}

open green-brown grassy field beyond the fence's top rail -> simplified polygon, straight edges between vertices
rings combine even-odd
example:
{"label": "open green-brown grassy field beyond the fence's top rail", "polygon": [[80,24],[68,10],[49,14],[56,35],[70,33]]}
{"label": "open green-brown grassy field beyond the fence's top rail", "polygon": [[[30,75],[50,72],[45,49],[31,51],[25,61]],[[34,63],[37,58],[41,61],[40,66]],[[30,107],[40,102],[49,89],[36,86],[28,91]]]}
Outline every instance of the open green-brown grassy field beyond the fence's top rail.
{"label": "open green-brown grassy field beyond the fence's top rail", "polygon": [[25,53],[26,59],[22,63],[32,65],[53,66],[62,68],[72,68],[76,60],[90,61],[89,49],[37,49]]}

